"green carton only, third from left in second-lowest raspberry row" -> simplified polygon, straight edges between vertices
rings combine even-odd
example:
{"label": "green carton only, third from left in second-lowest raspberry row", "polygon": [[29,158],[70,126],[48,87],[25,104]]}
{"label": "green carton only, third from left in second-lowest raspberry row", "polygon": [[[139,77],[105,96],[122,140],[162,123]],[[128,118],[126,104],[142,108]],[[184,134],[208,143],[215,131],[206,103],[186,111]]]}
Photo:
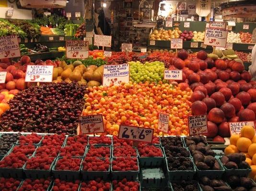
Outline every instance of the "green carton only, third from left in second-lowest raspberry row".
{"label": "green carton only, third from left in second-lowest raspberry row", "polygon": [[53,174],[54,178],[61,179],[61,180],[80,180],[82,158],[81,158],[81,163],[80,163],[80,169],[77,171],[75,171],[75,170],[55,170],[58,159],[62,159],[62,158],[63,157],[58,157],[55,160],[55,163],[52,168],[52,174]]}

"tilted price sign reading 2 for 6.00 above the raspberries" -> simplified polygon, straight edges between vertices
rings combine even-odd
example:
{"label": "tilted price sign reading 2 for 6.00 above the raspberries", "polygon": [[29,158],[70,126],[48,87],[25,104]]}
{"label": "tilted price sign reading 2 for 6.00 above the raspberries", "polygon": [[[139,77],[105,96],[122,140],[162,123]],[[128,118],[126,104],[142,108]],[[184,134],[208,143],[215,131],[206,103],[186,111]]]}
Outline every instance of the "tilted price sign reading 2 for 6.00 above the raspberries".
{"label": "tilted price sign reading 2 for 6.00 above the raspberries", "polygon": [[154,129],[120,125],[118,138],[151,143]]}

